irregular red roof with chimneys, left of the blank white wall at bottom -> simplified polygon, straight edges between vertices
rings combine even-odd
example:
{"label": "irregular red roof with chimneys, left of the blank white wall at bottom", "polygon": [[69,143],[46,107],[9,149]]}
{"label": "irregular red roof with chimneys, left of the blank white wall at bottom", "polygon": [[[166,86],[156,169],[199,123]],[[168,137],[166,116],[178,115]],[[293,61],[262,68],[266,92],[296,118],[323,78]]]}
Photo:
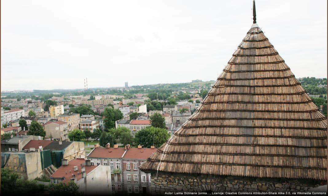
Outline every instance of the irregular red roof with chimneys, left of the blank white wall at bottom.
{"label": "irregular red roof with chimneys, left of the blank white wall at bottom", "polygon": [[[62,182],[68,183],[72,178],[72,174],[75,174],[75,178],[79,181],[82,178],[81,164],[85,163],[84,158],[76,158],[68,162],[68,165],[60,166],[52,175],[52,178],[65,178]],[[74,171],[74,166],[77,166],[77,171]],[[95,169],[97,166],[85,166],[85,172],[88,174],[90,171]],[[71,172],[70,172],[71,170]],[[66,174],[67,173],[67,174]],[[79,174],[77,174],[79,173]]]}

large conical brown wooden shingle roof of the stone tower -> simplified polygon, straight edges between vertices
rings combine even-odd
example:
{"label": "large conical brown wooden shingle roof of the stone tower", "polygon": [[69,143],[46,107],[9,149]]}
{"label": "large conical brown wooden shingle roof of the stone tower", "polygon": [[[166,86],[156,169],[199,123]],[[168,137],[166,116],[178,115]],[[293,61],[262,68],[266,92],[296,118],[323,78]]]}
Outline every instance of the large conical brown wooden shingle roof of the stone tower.
{"label": "large conical brown wooden shingle roof of the stone tower", "polygon": [[326,180],[327,118],[253,24],[196,112],[140,169]]}

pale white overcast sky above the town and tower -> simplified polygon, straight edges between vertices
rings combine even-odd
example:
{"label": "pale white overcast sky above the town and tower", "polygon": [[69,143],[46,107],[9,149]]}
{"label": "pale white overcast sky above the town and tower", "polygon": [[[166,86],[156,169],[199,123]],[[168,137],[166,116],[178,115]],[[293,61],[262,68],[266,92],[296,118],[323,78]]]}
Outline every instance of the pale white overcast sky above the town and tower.
{"label": "pale white overcast sky above the town and tower", "polygon": [[[252,1],[1,1],[1,90],[215,80],[252,25]],[[327,1],[257,0],[295,76],[325,78]]]}

